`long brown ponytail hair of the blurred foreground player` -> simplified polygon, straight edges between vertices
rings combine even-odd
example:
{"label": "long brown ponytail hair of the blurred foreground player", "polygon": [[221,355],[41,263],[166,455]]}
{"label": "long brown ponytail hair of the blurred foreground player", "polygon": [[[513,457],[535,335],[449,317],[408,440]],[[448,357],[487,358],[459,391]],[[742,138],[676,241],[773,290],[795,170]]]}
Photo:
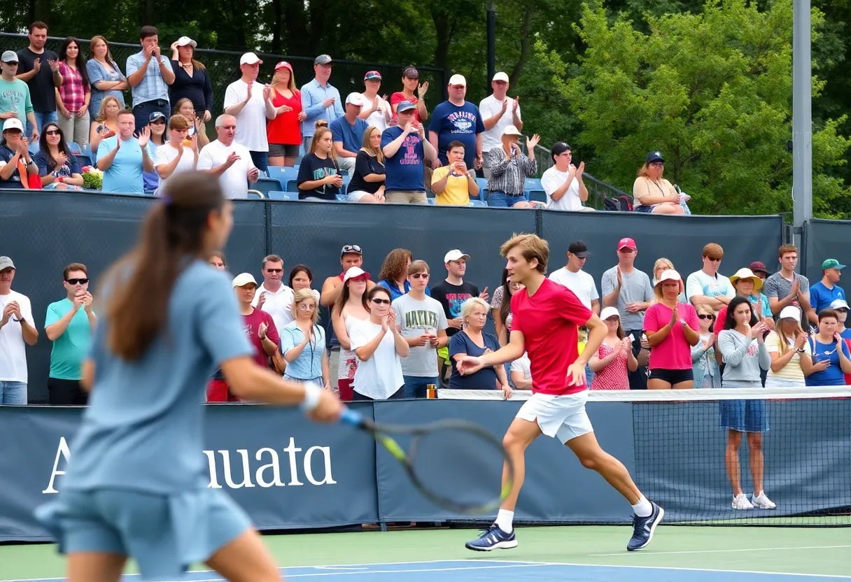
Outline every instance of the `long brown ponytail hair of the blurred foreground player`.
{"label": "long brown ponytail hair of the blurred foreground player", "polygon": [[163,332],[168,304],[186,257],[206,259],[203,248],[209,215],[226,199],[219,179],[206,172],[170,178],[163,202],[146,214],[140,241],[110,269],[112,293],[106,306],[109,349],[125,360],[139,360]]}

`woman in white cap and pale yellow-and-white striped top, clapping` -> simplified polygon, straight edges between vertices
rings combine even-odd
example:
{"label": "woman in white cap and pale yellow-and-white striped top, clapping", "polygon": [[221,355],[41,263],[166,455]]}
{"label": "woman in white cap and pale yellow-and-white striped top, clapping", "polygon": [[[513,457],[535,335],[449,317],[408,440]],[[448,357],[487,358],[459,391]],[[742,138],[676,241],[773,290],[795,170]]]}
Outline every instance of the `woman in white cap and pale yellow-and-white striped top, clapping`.
{"label": "woman in white cap and pale yellow-and-white striped top, clapping", "polygon": [[804,387],[804,378],[813,368],[812,351],[801,328],[801,309],[786,305],[780,311],[777,327],[765,339],[771,357],[771,368],[765,378],[766,388]]}

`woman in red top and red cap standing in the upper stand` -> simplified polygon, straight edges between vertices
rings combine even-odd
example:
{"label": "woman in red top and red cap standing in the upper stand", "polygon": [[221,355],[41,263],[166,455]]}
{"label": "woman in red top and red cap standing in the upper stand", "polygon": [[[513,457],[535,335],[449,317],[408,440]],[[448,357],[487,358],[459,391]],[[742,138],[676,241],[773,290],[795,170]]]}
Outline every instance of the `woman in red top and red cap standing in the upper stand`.
{"label": "woman in red top and red cap standing in the upper stand", "polygon": [[275,118],[266,125],[269,165],[294,166],[301,145],[301,122],[307,115],[301,111],[301,93],[295,88],[293,67],[287,61],[275,66],[270,86]]}

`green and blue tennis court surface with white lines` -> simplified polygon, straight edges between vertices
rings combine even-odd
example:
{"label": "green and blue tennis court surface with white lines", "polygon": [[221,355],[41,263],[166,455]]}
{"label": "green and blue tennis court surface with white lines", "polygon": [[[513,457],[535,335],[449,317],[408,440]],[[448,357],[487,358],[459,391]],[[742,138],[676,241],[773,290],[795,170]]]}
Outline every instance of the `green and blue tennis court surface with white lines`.
{"label": "green and blue tennis court surface with white lines", "polygon": [[[477,554],[471,529],[266,536],[286,579],[328,582],[829,582],[851,580],[848,528],[681,527],[656,530],[647,550],[625,551],[630,528],[518,528],[520,545]],[[203,567],[199,567],[203,568]],[[129,568],[129,572],[133,570]],[[60,582],[54,545],[0,546],[0,580]],[[127,582],[140,576],[128,574]],[[220,582],[214,572],[186,580]]]}

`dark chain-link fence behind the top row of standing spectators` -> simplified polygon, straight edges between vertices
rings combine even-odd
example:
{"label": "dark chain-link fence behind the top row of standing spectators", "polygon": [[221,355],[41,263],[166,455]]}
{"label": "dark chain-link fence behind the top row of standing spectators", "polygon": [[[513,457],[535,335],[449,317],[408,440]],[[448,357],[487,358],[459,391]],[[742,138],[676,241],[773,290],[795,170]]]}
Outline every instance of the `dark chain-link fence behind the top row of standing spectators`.
{"label": "dark chain-link fence behind the top row of standing spectators", "polygon": [[[48,37],[48,43],[45,48],[49,48],[58,53],[59,48],[64,41],[60,37]],[[89,40],[79,39],[83,56],[89,60]],[[10,32],[0,32],[0,50],[19,51],[29,44],[26,34],[13,34]],[[127,58],[131,54],[140,52],[139,44],[129,43],[112,43],[109,44],[112,57],[115,59],[122,72],[127,73]],[[170,57],[171,49],[168,46],[162,48],[163,56]],[[195,50],[195,58],[203,63],[209,71],[210,81],[213,83],[214,93],[214,111],[211,111],[215,117],[222,111],[222,103],[225,100],[225,90],[230,83],[239,78],[239,57],[243,53],[229,50],[213,50],[208,48],[197,48]],[[261,82],[268,83],[271,81],[272,72],[275,70],[275,65],[281,60],[286,60],[293,66],[293,73],[296,86],[300,87],[309,82],[313,78],[313,59],[315,57],[300,57],[300,56],[285,56],[280,54],[258,53],[263,64],[260,65]],[[334,56],[333,54],[331,56]],[[389,63],[367,63],[355,60],[334,60],[334,72],[331,74],[331,83],[336,87],[343,98],[346,94],[352,91],[363,92],[363,76],[367,71],[379,71],[384,77],[383,85],[380,94],[387,94],[402,90],[402,71],[407,65],[391,65]],[[431,101],[437,103],[439,100],[445,99],[441,91],[446,90],[446,71],[433,66],[416,66],[420,71],[420,83],[428,81],[432,87],[429,93],[432,95]],[[129,92],[124,95],[126,103],[132,103]]]}

